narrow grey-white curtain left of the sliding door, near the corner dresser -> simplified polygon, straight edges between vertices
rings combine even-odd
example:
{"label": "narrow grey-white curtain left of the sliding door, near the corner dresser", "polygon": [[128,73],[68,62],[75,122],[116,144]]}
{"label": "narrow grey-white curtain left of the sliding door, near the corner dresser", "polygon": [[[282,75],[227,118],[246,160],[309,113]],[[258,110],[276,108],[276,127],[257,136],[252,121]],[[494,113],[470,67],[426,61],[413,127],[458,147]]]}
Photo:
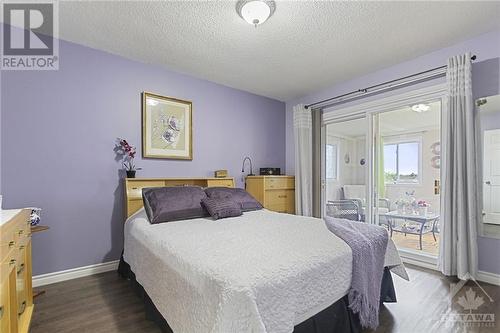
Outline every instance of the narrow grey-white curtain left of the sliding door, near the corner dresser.
{"label": "narrow grey-white curtain left of the sliding door, near the corner dresser", "polygon": [[295,143],[295,210],[312,216],[312,117],[311,110],[299,104],[293,107]]}

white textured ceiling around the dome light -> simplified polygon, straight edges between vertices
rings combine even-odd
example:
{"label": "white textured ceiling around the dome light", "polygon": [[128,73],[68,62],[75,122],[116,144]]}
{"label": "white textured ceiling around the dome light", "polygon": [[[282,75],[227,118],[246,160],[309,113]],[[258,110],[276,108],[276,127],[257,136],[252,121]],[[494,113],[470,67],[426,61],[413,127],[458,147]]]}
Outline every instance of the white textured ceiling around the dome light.
{"label": "white textured ceiling around the dome light", "polygon": [[60,37],[282,101],[500,27],[499,2],[61,2]]}

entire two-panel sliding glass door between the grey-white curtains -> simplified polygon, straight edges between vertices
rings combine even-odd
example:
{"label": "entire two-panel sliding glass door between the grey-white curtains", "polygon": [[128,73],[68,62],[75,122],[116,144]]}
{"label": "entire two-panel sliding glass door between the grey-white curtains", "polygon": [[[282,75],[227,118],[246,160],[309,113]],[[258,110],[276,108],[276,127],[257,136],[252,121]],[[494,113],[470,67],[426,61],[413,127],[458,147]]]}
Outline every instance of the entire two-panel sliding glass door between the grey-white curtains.
{"label": "entire two-panel sliding glass door between the grey-white curtains", "polygon": [[326,111],[322,126],[323,216],[384,226],[427,264],[439,251],[441,96]]}

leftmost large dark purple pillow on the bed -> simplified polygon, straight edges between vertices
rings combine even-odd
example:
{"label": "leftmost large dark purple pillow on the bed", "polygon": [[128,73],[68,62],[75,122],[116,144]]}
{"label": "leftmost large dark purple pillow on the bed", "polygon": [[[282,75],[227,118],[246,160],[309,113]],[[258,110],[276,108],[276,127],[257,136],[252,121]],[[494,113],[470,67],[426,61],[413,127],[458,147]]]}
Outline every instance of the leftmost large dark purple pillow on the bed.
{"label": "leftmost large dark purple pillow on the bed", "polygon": [[150,223],[208,216],[201,206],[207,195],[199,186],[150,187],[142,189],[144,209]]}

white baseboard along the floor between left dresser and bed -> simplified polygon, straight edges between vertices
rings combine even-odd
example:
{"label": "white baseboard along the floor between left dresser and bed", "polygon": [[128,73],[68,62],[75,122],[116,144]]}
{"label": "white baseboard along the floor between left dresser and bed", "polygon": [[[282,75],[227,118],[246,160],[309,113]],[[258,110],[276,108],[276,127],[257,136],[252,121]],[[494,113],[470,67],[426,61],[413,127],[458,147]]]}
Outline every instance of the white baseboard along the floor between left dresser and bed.
{"label": "white baseboard along the floor between left dresser and bed", "polygon": [[64,271],[33,276],[33,287],[73,280],[84,276],[114,271],[118,269],[119,260],[108,261],[101,264],[71,268]]}

